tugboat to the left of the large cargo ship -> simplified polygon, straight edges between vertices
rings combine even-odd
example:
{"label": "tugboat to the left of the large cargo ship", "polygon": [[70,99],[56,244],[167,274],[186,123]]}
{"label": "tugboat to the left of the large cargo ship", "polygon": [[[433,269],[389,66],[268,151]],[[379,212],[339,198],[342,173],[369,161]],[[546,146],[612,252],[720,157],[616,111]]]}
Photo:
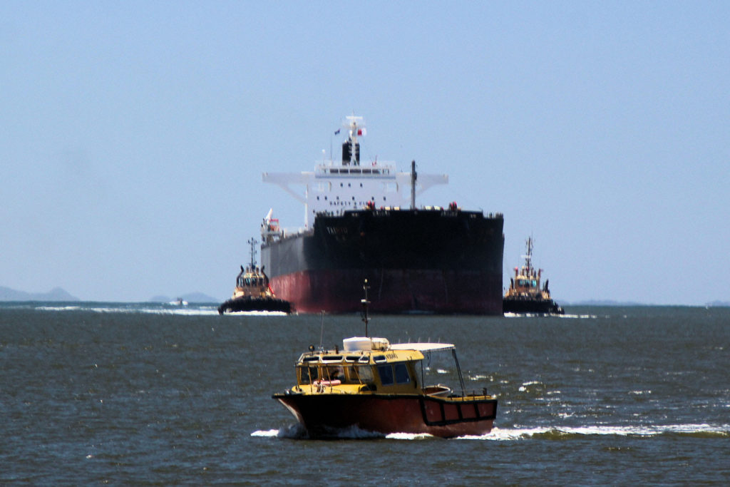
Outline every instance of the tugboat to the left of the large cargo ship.
{"label": "tugboat to the left of the large cargo ship", "polygon": [[242,312],[242,311],[268,311],[291,313],[291,303],[274,296],[269,277],[266,276],[264,268],[255,265],[255,239],[249,239],[251,246],[251,262],[245,269],[241,266],[236,278],[236,288],[233,297],[218,307],[218,313]]}

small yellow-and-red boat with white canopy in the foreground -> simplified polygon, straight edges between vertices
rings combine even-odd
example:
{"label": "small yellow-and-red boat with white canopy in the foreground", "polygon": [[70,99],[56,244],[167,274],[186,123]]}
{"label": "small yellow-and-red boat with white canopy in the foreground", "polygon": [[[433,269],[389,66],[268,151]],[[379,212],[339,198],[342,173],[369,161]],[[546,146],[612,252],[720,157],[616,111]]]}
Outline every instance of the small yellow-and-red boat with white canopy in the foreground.
{"label": "small yellow-and-red boat with white canopy in the foreground", "polygon": [[[365,281],[367,296],[367,281]],[[367,297],[362,300],[365,336],[342,340],[342,349],[310,346],[296,362],[296,386],[272,397],[304,426],[311,438],[336,437],[358,428],[380,434],[416,433],[452,438],[491,432],[497,399],[483,388],[464,391],[464,377],[451,343],[390,343],[369,337]],[[450,350],[461,392],[426,386],[423,359]]]}

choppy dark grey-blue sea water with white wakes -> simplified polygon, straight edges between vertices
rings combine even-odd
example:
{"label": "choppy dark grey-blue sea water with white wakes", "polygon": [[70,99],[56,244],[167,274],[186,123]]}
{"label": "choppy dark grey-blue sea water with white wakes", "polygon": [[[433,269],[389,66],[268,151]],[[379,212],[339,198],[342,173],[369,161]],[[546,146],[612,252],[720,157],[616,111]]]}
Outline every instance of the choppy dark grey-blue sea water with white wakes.
{"label": "choppy dark grey-blue sea water with white wakes", "polygon": [[356,315],[1,303],[0,483],[727,483],[730,308],[566,312],[372,317],[391,342],[455,343],[495,428],[315,441],[271,395],[309,345],[363,334]]}

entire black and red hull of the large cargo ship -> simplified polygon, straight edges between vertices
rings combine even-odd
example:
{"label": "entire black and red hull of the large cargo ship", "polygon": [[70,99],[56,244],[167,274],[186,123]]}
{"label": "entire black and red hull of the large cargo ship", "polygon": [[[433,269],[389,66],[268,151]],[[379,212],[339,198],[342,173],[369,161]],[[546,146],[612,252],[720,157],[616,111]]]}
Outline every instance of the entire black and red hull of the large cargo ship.
{"label": "entire black and red hull of the large cargo ship", "polygon": [[502,314],[502,215],[352,210],[261,246],[277,296],[299,312]]}

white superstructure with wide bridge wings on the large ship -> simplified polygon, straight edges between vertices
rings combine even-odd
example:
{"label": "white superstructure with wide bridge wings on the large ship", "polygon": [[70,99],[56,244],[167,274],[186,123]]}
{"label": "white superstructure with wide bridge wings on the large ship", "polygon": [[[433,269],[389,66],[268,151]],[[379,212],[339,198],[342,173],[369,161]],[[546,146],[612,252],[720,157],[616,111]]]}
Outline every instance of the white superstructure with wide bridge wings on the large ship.
{"label": "white superstructure with wide bridge wings on the large ship", "polygon": [[[447,175],[418,175],[415,172],[397,172],[395,164],[370,161],[360,163],[358,137],[365,134],[362,117],[347,117],[343,125],[348,131],[342,143],[342,161],[322,161],[314,172],[264,172],[264,183],[279,185],[304,204],[304,225],[311,228],[315,216],[326,212],[339,215],[345,210],[356,210],[370,205],[407,208],[415,196],[437,184],[447,184]],[[339,133],[339,130],[336,132]],[[411,194],[415,182],[415,194]],[[293,189],[304,185],[304,195]]]}

